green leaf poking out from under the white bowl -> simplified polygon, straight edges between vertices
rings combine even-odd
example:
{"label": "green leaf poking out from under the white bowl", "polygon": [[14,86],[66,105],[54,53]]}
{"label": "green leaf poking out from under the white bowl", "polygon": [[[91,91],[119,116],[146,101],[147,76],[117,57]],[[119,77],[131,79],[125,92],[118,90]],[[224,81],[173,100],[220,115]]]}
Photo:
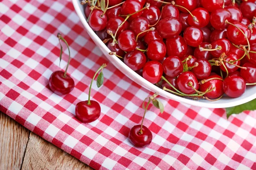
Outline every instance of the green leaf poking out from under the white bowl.
{"label": "green leaf poking out from under the white bowl", "polygon": [[253,99],[252,101],[244,103],[242,105],[226,108],[227,119],[232,114],[239,114],[243,111],[254,111],[254,110],[256,110],[256,99]]}

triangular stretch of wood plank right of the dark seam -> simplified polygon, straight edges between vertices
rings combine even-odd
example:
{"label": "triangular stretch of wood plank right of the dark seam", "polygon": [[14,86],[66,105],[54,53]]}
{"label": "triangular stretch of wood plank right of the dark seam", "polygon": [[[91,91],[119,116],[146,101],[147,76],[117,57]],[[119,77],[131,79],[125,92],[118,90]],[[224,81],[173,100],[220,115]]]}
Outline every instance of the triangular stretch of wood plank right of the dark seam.
{"label": "triangular stretch of wood plank right of the dark seam", "polygon": [[22,170],[93,170],[35,133],[30,133]]}

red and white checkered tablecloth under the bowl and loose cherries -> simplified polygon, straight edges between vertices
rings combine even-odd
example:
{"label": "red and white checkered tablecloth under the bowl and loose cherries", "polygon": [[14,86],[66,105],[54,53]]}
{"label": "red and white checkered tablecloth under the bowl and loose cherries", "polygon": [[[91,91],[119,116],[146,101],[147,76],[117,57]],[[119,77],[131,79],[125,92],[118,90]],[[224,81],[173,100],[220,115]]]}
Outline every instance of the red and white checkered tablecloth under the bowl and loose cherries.
{"label": "red and white checkered tablecloth under the bowl and loose cherries", "polygon": [[[198,108],[160,97],[165,112],[150,105],[144,125],[153,133],[146,148],[128,140],[141,122],[142,102],[152,95],[109,63],[90,39],[66,0],[0,2],[0,111],[95,169],[256,170],[256,112],[226,119],[224,109]],[[61,32],[70,44],[68,74],[74,90],[58,96],[48,79],[59,70]],[[64,48],[61,68],[67,64]],[[74,116],[87,99],[88,85],[106,62],[105,82],[93,84],[102,114],[90,124]]]}

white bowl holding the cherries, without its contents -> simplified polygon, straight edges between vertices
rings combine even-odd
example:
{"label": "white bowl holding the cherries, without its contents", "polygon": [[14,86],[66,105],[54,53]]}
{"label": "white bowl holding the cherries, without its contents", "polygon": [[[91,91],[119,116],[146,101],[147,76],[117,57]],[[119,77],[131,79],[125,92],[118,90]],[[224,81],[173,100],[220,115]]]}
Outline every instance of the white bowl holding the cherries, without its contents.
{"label": "white bowl holding the cherries, without its contents", "polygon": [[168,99],[175,100],[177,102],[186,103],[189,105],[205,107],[205,108],[228,108],[236,105],[241,105],[243,103],[249,102],[256,98],[256,86],[247,86],[247,90],[245,93],[239,98],[229,98],[223,97],[222,99],[211,102],[207,100],[192,100],[186,99],[180,96],[176,96],[174,94],[170,94],[169,92],[163,91],[161,88],[151,84],[143,77],[140,77],[137,73],[135,73],[131,68],[129,68],[125,63],[123,63],[120,59],[115,56],[111,56],[108,53],[111,52],[108,47],[99,39],[96,33],[90,28],[84,16],[84,6],[80,4],[80,0],[73,0],[73,5],[75,7],[76,13],[78,14],[81,22],[83,23],[86,31],[92,38],[92,40],[96,43],[96,45],[101,49],[101,51],[105,54],[105,56],[111,61],[111,63],[118,68],[123,74],[129,77],[134,82],[137,82],[139,85],[148,89],[152,92],[158,92],[161,96],[164,96]]}

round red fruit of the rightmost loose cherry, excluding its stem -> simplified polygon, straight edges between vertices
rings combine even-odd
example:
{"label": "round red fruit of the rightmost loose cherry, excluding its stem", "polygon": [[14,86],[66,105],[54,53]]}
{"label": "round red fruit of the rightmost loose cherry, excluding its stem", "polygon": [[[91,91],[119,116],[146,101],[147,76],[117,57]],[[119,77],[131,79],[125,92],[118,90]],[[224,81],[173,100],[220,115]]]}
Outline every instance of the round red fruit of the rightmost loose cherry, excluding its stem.
{"label": "round red fruit of the rightmost loose cherry, excluding its stem", "polygon": [[142,134],[140,134],[140,127],[141,125],[135,125],[131,128],[129,132],[128,138],[130,139],[131,143],[134,144],[136,147],[146,147],[152,141],[152,133],[148,129],[148,127],[142,126]]}

